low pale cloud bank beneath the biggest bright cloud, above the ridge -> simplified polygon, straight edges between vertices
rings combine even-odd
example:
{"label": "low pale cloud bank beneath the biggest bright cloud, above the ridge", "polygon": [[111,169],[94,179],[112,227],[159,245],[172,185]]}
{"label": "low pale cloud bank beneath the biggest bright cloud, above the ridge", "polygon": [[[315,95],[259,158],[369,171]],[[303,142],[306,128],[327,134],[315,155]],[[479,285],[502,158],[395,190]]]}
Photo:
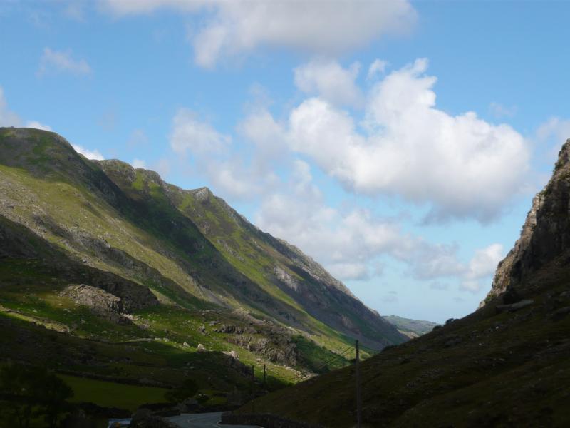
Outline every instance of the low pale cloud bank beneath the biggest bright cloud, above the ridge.
{"label": "low pale cloud bank beneath the biggest bright cloud, above the ridge", "polygon": [[462,290],[473,291],[489,280],[502,258],[502,245],[493,244],[476,250],[464,263],[457,244],[430,243],[405,233],[397,221],[378,218],[368,210],[332,208],[314,184],[309,164],[301,160],[294,161],[289,182],[264,197],[255,220],[341,280],[382,275],[381,258],[388,257],[403,263],[405,274],[417,280],[455,278]]}

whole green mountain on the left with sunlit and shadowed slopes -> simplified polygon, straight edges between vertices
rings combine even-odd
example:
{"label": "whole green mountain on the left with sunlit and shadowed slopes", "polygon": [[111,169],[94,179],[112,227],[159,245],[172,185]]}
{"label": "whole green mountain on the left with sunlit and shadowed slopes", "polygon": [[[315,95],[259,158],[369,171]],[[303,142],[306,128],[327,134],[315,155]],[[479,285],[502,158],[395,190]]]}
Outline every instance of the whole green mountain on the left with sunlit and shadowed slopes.
{"label": "whole green mountain on the left with sunlit and shadowed slopes", "polygon": [[0,358],[82,377],[228,391],[267,365],[278,387],[348,364],[355,339],[407,340],[207,188],[31,128],[0,128],[0,281]]}

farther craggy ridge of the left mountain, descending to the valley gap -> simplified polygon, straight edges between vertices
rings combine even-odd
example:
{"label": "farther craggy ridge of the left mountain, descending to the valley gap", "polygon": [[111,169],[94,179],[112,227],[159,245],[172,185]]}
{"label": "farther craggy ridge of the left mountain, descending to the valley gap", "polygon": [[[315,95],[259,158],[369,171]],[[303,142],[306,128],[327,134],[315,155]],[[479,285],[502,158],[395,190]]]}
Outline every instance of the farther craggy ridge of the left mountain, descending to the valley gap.
{"label": "farther craggy ridge of the left mountain, descending to the valley gap", "polygon": [[[255,300],[286,324],[314,329],[306,318],[308,313],[373,349],[404,340],[392,325],[353,297],[321,265],[256,228],[207,188],[182,190],[163,182],[152,171],[135,170],[119,161],[98,164],[134,200],[154,200],[159,205],[175,207],[177,215],[181,213],[190,219],[224,260],[244,275],[234,281],[234,287],[246,289],[249,300]],[[227,270],[226,265],[219,263],[214,274]],[[212,282],[203,275],[195,272],[193,280],[201,285]],[[252,292],[252,284],[264,294]],[[269,300],[266,295],[271,296]],[[284,302],[287,307],[273,307],[274,301]]]}

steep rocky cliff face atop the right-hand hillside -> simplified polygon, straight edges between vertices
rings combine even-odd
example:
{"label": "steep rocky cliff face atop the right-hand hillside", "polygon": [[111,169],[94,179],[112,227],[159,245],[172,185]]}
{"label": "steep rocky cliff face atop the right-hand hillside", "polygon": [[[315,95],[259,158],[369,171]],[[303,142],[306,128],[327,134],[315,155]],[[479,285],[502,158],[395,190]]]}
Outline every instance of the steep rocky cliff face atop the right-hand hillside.
{"label": "steep rocky cliff face atop the right-hand hillside", "polygon": [[[570,250],[570,139],[562,146],[554,173],[532,200],[521,236],[502,260],[485,301],[516,288],[529,274]],[[559,260],[568,263],[568,260]],[[484,305],[484,302],[482,302]]]}

